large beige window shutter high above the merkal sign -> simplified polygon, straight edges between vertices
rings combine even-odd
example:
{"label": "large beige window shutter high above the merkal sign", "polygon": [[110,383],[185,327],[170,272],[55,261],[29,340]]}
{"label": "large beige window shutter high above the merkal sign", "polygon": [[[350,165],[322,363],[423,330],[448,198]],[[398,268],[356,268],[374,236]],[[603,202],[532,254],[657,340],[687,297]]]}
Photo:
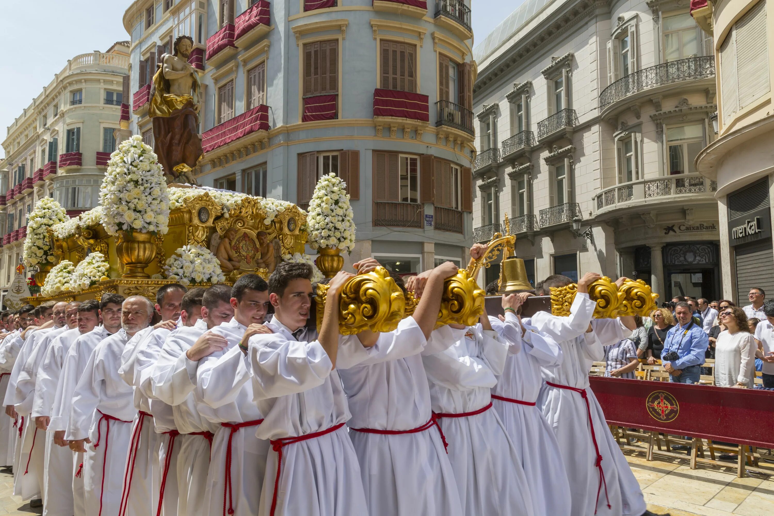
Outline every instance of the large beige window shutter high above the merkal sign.
{"label": "large beige window shutter high above the merkal sign", "polygon": [[758,2],[734,24],[740,109],[771,89],[765,6]]}

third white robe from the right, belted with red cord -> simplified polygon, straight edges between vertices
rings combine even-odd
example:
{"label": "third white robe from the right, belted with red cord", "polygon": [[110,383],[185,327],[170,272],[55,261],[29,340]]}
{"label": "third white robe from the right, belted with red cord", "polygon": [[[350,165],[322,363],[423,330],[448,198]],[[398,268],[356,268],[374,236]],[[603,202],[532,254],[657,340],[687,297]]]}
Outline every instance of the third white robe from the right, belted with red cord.
{"label": "third white robe from the right, belted with red cord", "polygon": [[[491,403],[495,375],[502,374],[510,345],[480,325],[434,331],[433,339],[451,339],[441,353],[423,356],[430,401],[437,414],[474,412]],[[449,332],[451,335],[449,335]],[[441,418],[449,443],[460,501],[466,516],[533,513],[532,497],[505,425],[491,408],[462,418]]]}

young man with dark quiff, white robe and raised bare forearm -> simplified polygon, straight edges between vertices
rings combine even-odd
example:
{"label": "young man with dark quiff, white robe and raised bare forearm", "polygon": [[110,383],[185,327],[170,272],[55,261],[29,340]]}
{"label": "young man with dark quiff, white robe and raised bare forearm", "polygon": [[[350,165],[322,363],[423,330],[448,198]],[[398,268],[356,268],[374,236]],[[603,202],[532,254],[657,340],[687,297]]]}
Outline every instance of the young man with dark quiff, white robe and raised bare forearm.
{"label": "young man with dark quiff, white robe and raised bare forearm", "polygon": [[266,326],[274,333],[253,335],[246,348],[240,343],[253,399],[264,415],[256,435],[273,450],[259,516],[368,514],[358,456],[344,428],[350,418],[347,397],[335,368],[368,359],[374,348],[366,346],[376,339],[364,344],[340,338],[339,294],[352,277],[344,271],[330,280],[319,335],[307,328],[311,277],[307,263],[280,263],[269,277],[275,313]]}

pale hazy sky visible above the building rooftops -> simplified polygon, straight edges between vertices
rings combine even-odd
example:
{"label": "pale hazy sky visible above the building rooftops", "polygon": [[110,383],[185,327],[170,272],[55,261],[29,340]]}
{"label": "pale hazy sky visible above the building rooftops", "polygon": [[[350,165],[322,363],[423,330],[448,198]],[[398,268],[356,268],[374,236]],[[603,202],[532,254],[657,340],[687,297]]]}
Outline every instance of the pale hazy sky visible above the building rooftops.
{"label": "pale hazy sky visible above the building rooftops", "polygon": [[[524,0],[473,0],[474,43]],[[122,17],[130,0],[0,0],[0,142],[68,59],[128,40]],[[431,3],[431,0],[428,2]],[[5,156],[5,152],[3,156]]]}

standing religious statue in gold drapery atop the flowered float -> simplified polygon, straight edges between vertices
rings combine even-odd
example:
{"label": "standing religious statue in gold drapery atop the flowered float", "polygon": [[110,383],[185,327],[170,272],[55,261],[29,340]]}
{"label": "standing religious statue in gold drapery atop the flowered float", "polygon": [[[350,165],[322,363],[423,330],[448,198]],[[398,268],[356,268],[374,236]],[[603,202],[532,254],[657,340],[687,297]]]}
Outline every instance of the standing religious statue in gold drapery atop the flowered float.
{"label": "standing religious statue in gold drapery atop the flowered float", "polygon": [[201,85],[196,68],[188,63],[194,48],[190,36],[177,36],[173,54],[163,54],[151,86],[148,115],[153,121],[153,150],[159,156],[168,183],[197,184],[191,171],[202,155],[198,132]]}

